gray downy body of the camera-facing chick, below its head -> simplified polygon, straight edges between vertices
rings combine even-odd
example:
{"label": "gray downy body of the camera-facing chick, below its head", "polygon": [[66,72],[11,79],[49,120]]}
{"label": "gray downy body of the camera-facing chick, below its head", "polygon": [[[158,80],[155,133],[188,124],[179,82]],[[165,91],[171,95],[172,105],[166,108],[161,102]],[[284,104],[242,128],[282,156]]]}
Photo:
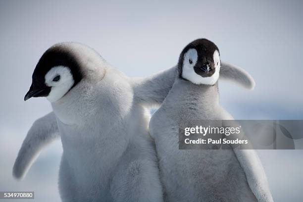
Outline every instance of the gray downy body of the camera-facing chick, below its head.
{"label": "gray downy body of the camera-facing chick, below its head", "polygon": [[152,115],[150,133],[156,144],[165,201],[256,201],[233,150],[178,150],[182,120],[232,119],[214,105],[216,94],[215,86],[202,87],[177,78]]}

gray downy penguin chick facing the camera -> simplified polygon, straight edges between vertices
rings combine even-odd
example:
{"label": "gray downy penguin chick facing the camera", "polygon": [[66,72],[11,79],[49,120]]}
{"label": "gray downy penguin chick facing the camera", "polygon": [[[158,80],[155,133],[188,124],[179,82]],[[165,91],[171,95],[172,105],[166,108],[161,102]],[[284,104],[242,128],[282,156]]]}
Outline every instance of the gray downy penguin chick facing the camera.
{"label": "gray downy penguin chick facing the camera", "polygon": [[253,150],[178,149],[182,121],[233,119],[219,105],[217,80],[224,72],[220,62],[218,48],[206,39],[186,46],[179,58],[179,76],[152,115],[149,130],[155,140],[164,201],[273,201]]}

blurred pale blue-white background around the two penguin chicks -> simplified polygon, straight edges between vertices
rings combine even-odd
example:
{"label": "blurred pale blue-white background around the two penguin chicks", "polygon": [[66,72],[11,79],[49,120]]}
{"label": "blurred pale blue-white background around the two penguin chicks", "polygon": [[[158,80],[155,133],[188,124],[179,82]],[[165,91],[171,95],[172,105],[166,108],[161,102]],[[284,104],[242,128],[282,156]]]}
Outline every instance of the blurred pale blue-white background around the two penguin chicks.
{"label": "blurred pale blue-white background around the two penguin chicks", "polygon": [[[302,19],[302,0],[0,0],[0,191],[59,201],[60,141],[41,152],[22,181],[11,174],[31,124],[51,111],[46,99],[23,101],[51,45],[84,43],[137,77],[175,65],[188,43],[207,38],[222,60],[256,81],[254,91],[220,82],[220,102],[235,119],[303,119]],[[258,153],[274,200],[302,202],[303,150]]]}

